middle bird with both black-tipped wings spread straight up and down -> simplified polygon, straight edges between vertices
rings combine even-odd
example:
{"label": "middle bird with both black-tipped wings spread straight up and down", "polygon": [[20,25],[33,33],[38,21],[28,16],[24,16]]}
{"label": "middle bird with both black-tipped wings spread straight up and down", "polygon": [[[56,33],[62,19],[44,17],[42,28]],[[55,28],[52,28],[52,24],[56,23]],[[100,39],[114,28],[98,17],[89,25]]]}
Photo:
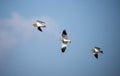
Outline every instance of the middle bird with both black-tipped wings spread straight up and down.
{"label": "middle bird with both black-tipped wings spread straight up and down", "polygon": [[67,43],[71,43],[71,40],[68,39],[68,37],[67,37],[67,32],[65,29],[62,32],[61,41],[62,41],[61,51],[62,51],[62,53],[64,53],[67,48]]}

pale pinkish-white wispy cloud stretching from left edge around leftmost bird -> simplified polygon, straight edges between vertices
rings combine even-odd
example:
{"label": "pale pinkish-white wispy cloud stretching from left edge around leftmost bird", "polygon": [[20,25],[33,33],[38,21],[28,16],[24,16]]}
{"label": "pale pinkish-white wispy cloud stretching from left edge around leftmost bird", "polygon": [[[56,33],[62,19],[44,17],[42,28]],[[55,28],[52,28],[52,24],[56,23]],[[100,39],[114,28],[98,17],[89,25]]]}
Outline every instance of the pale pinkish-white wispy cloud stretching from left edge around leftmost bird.
{"label": "pale pinkish-white wispy cloud stretching from left edge around leftmost bird", "polygon": [[18,44],[19,40],[23,42],[29,40],[31,36],[35,34],[35,28],[32,24],[35,23],[37,19],[46,22],[47,27],[43,31],[59,37],[60,26],[57,25],[53,19],[48,17],[27,19],[13,12],[10,18],[0,19],[0,50],[13,48]]}

